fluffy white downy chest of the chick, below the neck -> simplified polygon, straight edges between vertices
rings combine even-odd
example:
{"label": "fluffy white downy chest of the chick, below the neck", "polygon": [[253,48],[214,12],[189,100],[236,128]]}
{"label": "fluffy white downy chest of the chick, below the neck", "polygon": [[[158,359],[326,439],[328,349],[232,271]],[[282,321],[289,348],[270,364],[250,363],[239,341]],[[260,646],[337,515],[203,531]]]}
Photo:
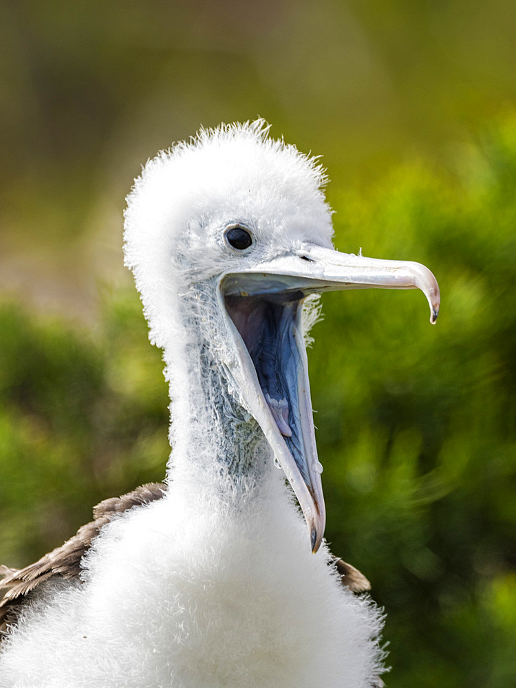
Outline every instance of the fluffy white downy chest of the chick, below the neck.
{"label": "fluffy white downy chest of the chick, below the neck", "polygon": [[369,686],[378,614],[310,554],[280,482],[240,509],[172,494],[111,524],[85,583],[25,615],[0,686]]}

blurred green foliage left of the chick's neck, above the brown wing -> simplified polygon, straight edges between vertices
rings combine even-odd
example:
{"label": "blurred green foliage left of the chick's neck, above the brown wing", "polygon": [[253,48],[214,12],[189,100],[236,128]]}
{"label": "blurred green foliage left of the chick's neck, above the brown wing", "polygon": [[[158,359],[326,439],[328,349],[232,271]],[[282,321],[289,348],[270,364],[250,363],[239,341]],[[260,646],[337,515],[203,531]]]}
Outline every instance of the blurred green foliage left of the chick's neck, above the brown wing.
{"label": "blurred green foliage left of the chick's neck, above the brown wing", "polygon": [[95,336],[14,305],[0,323],[0,552],[18,566],[163,477],[168,397],[132,292]]}

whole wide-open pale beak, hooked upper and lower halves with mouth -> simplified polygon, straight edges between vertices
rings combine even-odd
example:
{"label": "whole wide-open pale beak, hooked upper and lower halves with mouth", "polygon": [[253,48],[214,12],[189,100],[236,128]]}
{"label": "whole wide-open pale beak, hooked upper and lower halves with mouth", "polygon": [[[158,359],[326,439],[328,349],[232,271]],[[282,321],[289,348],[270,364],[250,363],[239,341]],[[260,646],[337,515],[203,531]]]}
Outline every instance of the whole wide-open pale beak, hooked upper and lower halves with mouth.
{"label": "whole wide-open pale beak, hooked upper and lower halves with mouth", "polygon": [[313,244],[226,275],[220,285],[228,323],[237,330],[237,382],[301,505],[312,552],[323,538],[325,507],[301,327],[303,301],[309,294],[373,287],[422,290],[430,321],[436,322],[438,283],[421,264]]}

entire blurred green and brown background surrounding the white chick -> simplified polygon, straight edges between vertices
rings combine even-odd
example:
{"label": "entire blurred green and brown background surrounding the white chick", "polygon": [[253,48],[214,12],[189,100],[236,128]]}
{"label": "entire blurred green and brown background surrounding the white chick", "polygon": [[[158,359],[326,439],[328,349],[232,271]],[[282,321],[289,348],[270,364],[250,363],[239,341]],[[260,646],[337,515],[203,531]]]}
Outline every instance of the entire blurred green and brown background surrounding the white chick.
{"label": "entire blurred green and brown background surrounding the white chick", "polygon": [[3,0],[0,561],[160,480],[160,352],[122,268],[140,164],[199,125],[323,154],[341,250],[419,292],[328,294],[310,351],[333,550],[387,610],[391,687],[516,685],[516,6]]}

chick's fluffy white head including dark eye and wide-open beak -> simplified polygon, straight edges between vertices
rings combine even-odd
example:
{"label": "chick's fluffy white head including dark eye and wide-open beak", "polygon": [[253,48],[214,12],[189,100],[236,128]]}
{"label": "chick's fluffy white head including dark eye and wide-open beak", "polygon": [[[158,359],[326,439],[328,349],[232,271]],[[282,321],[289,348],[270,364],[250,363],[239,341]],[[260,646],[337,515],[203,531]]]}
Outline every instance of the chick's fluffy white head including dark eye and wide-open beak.
{"label": "chick's fluffy white head including dark eye and wide-open beak", "polygon": [[325,182],[317,160],[268,138],[263,120],[222,125],[147,163],[125,223],[126,264],[151,339],[166,357],[186,318],[211,343],[230,393],[292,485],[314,552],[325,526],[305,352],[314,299],[330,290],[420,288],[431,322],[439,308],[424,266],[334,250]]}

